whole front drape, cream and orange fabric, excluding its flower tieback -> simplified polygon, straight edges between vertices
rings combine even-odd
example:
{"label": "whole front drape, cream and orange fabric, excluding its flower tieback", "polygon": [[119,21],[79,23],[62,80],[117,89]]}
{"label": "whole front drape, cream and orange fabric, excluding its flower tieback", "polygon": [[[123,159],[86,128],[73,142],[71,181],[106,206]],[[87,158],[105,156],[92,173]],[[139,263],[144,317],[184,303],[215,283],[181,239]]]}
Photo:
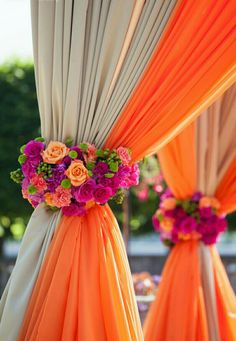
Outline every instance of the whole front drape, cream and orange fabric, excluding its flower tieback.
{"label": "whole front drape, cream and orange fabric, excluding its flower tieback", "polygon": [[[31,5],[47,141],[72,137],[128,146],[135,161],[169,141],[235,79],[233,1]],[[59,225],[49,214],[52,223],[42,229],[44,213],[36,212],[1,302],[0,338],[17,338],[31,296],[20,340],[103,340],[113,330],[114,340],[142,340],[123,242],[109,208],[64,217]]]}

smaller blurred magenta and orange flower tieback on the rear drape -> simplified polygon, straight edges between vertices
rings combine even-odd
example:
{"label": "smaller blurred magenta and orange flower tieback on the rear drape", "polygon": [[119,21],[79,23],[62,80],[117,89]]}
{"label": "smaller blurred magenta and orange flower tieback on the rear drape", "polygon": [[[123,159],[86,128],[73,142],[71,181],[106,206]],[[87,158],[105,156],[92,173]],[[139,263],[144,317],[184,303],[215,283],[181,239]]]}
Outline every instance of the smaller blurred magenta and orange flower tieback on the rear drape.
{"label": "smaller blurred magenta and orange flower tieback on the rear drape", "polygon": [[219,214],[219,208],[216,198],[203,196],[200,192],[190,199],[178,200],[167,189],[152,219],[154,229],[168,246],[189,239],[211,245],[227,229],[227,220],[225,215]]}

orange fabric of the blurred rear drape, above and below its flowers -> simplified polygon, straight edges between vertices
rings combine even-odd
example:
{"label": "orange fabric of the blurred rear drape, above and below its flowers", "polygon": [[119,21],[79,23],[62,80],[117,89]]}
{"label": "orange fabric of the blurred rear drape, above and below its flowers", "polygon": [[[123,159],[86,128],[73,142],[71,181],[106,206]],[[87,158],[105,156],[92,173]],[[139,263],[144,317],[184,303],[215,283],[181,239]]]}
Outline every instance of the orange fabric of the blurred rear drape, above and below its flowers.
{"label": "orange fabric of the blurred rear drape, above and below its flowers", "polygon": [[[222,114],[225,114],[225,112],[222,112]],[[212,127],[209,126],[209,129],[212,129]],[[211,132],[209,131],[209,133]],[[177,198],[188,197],[197,190],[196,144],[195,123],[185,129],[158,153],[164,177]],[[236,159],[231,163],[215,191],[215,196],[220,200],[224,213],[232,212],[235,209],[235,195]],[[211,335],[208,335],[209,326],[201,337],[195,329],[194,323],[199,320],[199,314],[201,320],[205,320],[207,324],[205,310],[207,306],[206,295],[209,295],[209,292],[206,292],[208,289],[204,287],[201,275],[199,242],[191,242],[191,244],[191,247],[195,248],[194,254],[190,250],[189,242],[176,245],[170,253],[163,271],[157,298],[152,304],[145,321],[144,335],[146,341],[208,341],[214,339]],[[234,341],[236,340],[236,297],[216,247],[204,247],[211,251],[209,257],[211,258],[212,268],[207,270],[211,271],[212,269],[214,272],[213,285],[215,289],[213,296],[215,296],[216,300],[216,323],[218,324],[219,335],[223,341]],[[196,258],[195,255],[197,255]],[[191,264],[188,270],[186,269],[186,262]],[[190,289],[188,286],[193,273],[199,278],[199,282],[195,286],[196,291],[191,296],[189,295]],[[202,301],[194,299],[199,291],[204,292],[205,295]],[[186,309],[187,304],[189,304],[188,309]],[[213,312],[210,311],[209,313]],[[191,315],[190,322],[189,315]],[[215,329],[217,327],[215,326]],[[183,329],[188,332],[184,334]]]}

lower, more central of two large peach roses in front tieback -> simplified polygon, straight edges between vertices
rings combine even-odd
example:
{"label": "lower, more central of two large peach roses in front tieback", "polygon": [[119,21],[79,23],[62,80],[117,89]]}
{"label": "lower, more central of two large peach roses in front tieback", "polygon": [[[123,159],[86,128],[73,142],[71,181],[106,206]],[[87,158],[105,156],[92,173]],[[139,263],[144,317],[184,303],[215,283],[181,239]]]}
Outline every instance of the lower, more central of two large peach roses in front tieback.
{"label": "lower, more central of two large peach roses in front tieback", "polygon": [[89,178],[88,170],[81,160],[72,161],[65,174],[73,186],[80,186]]}

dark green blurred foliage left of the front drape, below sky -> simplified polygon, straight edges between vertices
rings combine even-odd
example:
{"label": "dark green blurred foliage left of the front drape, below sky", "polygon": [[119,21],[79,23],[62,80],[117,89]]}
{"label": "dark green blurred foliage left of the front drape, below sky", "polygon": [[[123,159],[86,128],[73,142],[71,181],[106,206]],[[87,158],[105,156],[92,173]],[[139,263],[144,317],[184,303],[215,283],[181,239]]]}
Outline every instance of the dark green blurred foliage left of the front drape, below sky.
{"label": "dark green blurred foliage left of the front drape, below sky", "polygon": [[39,127],[32,63],[15,60],[3,64],[0,66],[0,217],[9,219],[8,227],[1,224],[1,230],[7,229],[6,236],[19,236],[32,212],[9,173],[18,167],[19,147],[40,135]]}

